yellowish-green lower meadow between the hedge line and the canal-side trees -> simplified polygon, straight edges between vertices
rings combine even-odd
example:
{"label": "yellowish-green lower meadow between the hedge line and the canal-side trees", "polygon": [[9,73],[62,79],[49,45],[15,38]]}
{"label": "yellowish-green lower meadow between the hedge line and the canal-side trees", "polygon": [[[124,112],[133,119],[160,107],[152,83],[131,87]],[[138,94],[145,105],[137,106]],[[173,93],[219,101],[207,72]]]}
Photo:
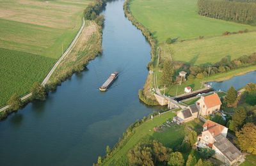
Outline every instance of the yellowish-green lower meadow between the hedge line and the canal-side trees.
{"label": "yellowish-green lower meadow between the hedge line and the canal-side trees", "polygon": [[163,57],[192,65],[213,64],[229,56],[231,60],[251,55],[256,50],[256,32],[216,36],[161,45]]}

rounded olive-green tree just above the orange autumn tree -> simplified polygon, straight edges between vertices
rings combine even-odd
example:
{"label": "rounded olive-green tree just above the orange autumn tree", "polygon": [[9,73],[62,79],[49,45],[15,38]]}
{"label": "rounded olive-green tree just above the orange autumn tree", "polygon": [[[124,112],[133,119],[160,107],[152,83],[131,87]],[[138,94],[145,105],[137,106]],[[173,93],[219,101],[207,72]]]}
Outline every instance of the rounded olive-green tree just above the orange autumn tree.
{"label": "rounded olive-green tree just above the orange autumn tree", "polygon": [[236,108],[233,116],[232,116],[232,122],[234,124],[235,130],[238,128],[241,128],[242,124],[244,123],[244,120],[246,118],[246,111],[243,107]]}

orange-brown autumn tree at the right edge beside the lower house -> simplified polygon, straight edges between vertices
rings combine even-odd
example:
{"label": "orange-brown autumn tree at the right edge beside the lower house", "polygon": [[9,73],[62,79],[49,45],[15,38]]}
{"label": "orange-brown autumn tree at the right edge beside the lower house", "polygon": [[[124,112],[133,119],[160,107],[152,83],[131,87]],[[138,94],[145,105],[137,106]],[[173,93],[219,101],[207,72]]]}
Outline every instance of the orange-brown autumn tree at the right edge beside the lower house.
{"label": "orange-brown autumn tree at the right edge beside the lower house", "polygon": [[246,123],[243,128],[236,132],[237,144],[243,151],[256,155],[256,126]]}

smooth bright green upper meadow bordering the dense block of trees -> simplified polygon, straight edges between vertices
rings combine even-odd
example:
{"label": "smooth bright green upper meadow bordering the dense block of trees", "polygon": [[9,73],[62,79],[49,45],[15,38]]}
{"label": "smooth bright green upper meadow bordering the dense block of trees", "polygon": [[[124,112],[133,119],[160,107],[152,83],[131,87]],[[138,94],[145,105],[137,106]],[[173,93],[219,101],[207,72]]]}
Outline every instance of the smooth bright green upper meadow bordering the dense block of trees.
{"label": "smooth bright green upper meadow bordering the dense block of trees", "polygon": [[133,0],[131,12],[160,43],[167,38],[191,39],[198,36],[220,36],[225,31],[256,29],[246,24],[202,17],[197,0]]}

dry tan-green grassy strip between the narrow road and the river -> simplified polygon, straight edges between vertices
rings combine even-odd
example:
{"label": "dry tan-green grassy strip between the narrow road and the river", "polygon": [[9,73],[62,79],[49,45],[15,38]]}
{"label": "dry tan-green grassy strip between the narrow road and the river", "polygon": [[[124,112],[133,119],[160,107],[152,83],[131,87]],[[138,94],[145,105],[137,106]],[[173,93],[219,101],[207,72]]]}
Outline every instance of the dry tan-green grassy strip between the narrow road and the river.
{"label": "dry tan-green grassy strip between the narrow road and the river", "polygon": [[86,20],[81,35],[77,39],[68,56],[61,61],[56,71],[52,74],[47,86],[54,89],[56,85],[72,75],[74,72],[81,72],[88,61],[94,59],[102,52],[102,27],[94,21]]}

